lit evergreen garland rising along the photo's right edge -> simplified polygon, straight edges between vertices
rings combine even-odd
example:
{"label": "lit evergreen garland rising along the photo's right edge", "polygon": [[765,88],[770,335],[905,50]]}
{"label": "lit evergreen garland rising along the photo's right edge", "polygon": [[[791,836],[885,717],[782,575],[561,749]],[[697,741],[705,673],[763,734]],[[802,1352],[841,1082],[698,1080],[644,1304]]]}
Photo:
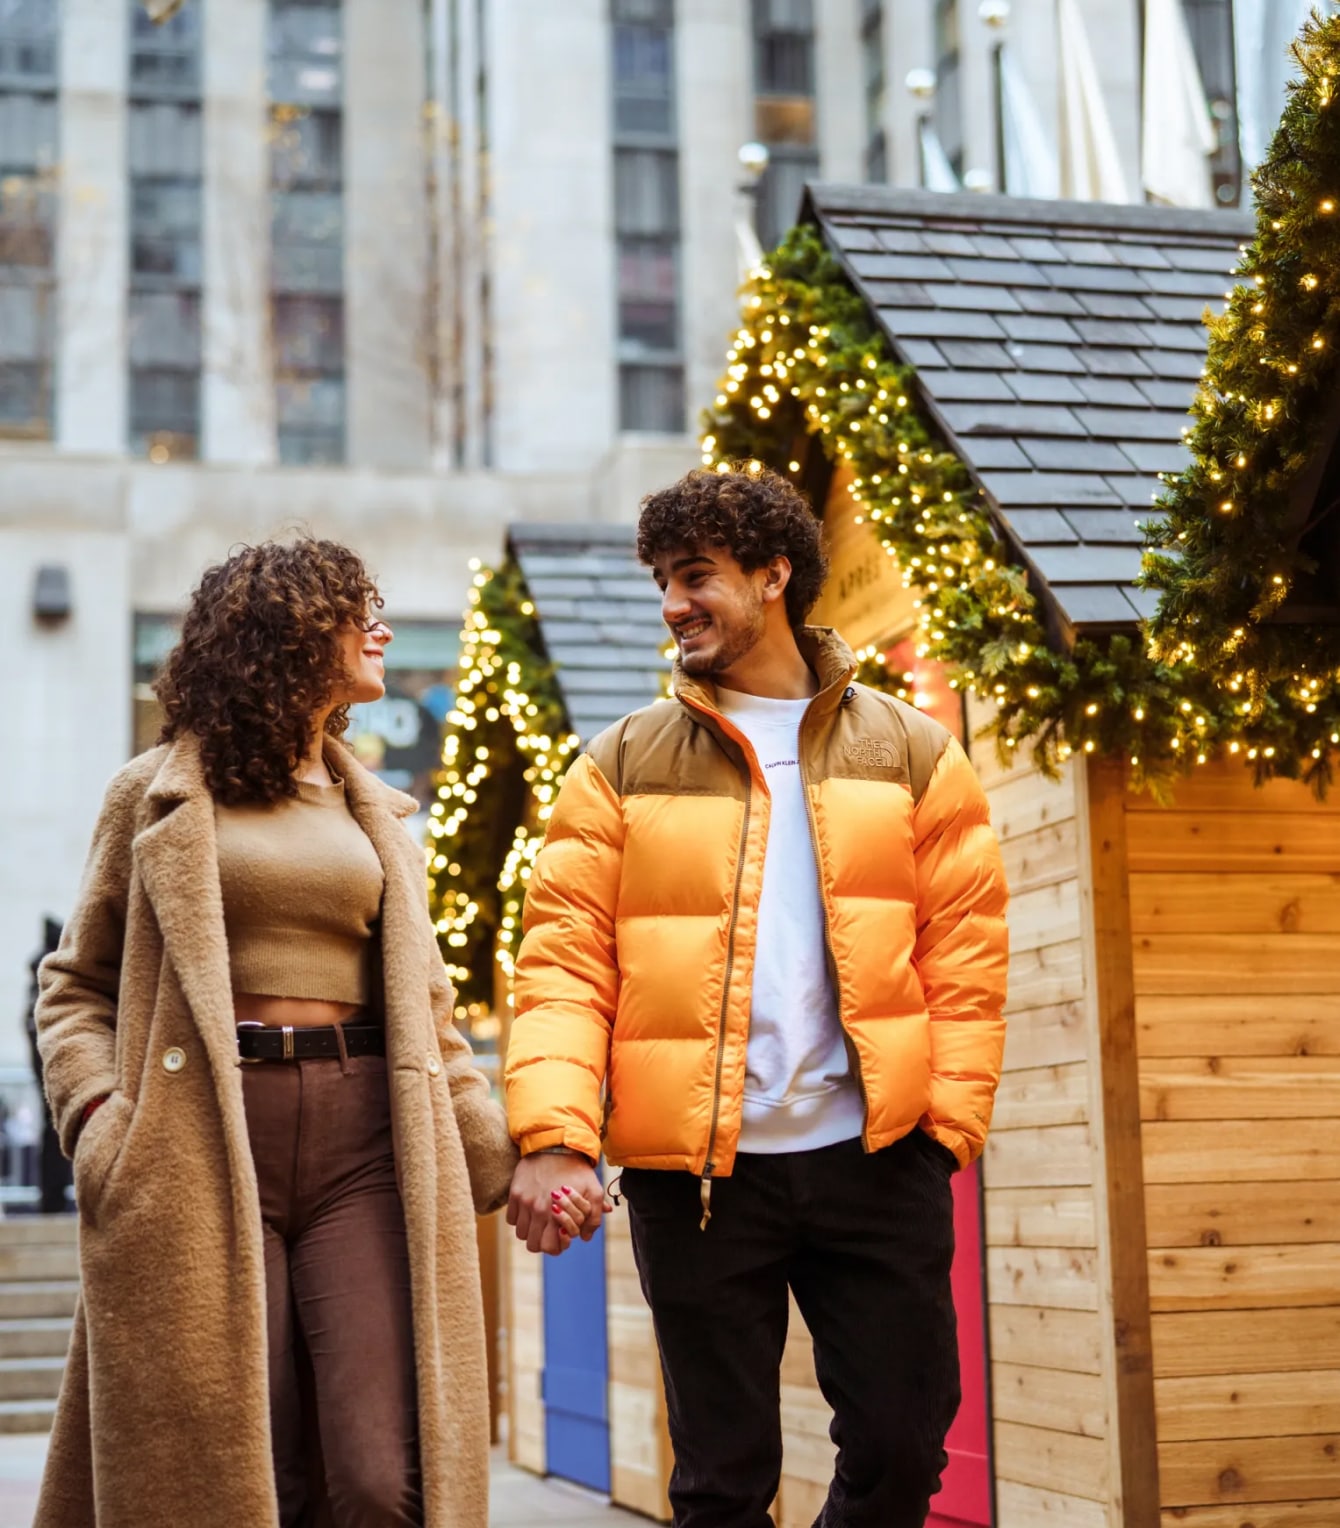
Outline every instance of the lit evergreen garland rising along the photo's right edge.
{"label": "lit evergreen garland rising along the photo's right edge", "polygon": [[[1340,385],[1340,17],[1294,44],[1302,69],[1256,171],[1257,232],[1210,345],[1189,432],[1192,465],[1160,500],[1146,582],[1163,593],[1152,651],[1180,656],[1233,700],[1239,726],[1277,756],[1329,776],[1340,738],[1340,625],[1283,622],[1293,596],[1334,608],[1340,568],[1303,542],[1312,504],[1294,494],[1337,422]],[[1334,516],[1323,506],[1332,549]],[[1303,613],[1305,614],[1305,613]],[[1285,770],[1291,773],[1293,770]]]}

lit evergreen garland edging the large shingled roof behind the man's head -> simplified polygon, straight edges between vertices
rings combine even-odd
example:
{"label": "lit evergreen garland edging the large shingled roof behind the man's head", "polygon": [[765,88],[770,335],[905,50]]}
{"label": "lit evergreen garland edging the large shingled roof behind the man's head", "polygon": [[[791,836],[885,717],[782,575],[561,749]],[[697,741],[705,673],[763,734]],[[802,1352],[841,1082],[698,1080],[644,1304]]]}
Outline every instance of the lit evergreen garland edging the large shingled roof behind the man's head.
{"label": "lit evergreen garland edging the large shingled roof behind the man's head", "polygon": [[1305,747],[1274,712],[1242,714],[1184,652],[1160,659],[1131,636],[1050,645],[1027,573],[816,228],[793,229],[753,274],[703,428],[703,461],[718,471],[767,463],[795,475],[805,435],[851,466],[860,518],[917,587],[918,656],[995,701],[1002,755],[1030,743],[1047,770],[1076,750],[1126,758],[1134,781],[1158,792],[1219,750],[1245,755],[1259,776],[1326,769],[1311,736]]}

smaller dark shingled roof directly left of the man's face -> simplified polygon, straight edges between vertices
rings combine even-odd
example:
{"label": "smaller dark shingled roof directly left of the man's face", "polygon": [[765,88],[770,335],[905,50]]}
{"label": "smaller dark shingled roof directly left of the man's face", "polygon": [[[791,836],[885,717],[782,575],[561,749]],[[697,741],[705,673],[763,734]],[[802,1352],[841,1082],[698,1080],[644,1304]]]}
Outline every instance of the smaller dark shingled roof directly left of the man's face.
{"label": "smaller dark shingled roof directly left of the man's face", "polygon": [[663,694],[668,633],[631,526],[512,526],[507,550],[582,743]]}

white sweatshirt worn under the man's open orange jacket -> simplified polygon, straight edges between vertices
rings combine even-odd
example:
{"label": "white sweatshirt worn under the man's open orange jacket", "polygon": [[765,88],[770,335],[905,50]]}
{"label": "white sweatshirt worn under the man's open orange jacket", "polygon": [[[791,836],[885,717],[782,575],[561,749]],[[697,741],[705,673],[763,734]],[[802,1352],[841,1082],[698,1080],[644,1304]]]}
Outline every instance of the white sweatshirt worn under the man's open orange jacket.
{"label": "white sweatshirt worn under the man's open orange jacket", "polygon": [[772,796],[744,1079],[746,1152],[816,1151],[862,1132],[865,1109],[828,975],[824,903],[801,782],[807,700],[717,691]]}

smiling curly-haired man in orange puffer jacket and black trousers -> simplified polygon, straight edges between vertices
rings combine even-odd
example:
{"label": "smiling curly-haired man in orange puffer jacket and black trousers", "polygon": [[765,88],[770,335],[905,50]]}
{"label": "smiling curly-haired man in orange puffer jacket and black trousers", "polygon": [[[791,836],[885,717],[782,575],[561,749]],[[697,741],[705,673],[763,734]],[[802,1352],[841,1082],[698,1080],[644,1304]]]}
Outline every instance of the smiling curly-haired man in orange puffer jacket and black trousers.
{"label": "smiling curly-haired man in orange puffer jacket and black trousers", "polygon": [[[834,1410],[824,1528],[920,1528],[958,1409],[950,1174],[1001,1067],[1005,885],[958,743],[804,625],[819,527],[770,472],[691,472],[637,552],[675,700],[570,769],[526,900],[509,1219],[561,1250],[623,1166],[675,1528],[765,1528],[790,1288]],[[604,1109],[602,1109],[604,1088]]]}

